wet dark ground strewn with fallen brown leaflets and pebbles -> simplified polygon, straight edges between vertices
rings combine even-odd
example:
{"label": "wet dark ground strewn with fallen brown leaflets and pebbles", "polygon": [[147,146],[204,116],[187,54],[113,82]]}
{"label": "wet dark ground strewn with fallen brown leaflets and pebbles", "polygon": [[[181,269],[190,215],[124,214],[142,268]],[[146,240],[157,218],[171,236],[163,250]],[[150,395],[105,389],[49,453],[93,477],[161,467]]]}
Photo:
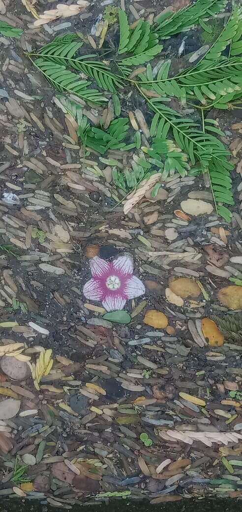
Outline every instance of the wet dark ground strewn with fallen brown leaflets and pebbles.
{"label": "wet dark ground strewn with fallen brown leaflets and pebbles", "polygon": [[[112,164],[95,151],[83,157],[72,116],[26,56],[67,32],[92,33],[97,45],[92,28],[106,4],[33,28],[24,3],[4,0],[6,12],[0,3],[0,20],[24,29],[19,40],[0,36],[0,496],[63,508],[112,496],[240,499],[242,288],[230,279],[241,285],[241,171],[233,172],[230,224],[201,177],[179,174],[125,215]],[[145,19],[167,6],[131,5]],[[133,23],[134,10],[126,11]],[[109,28],[103,59],[118,46],[117,31]],[[191,30],[178,58],[183,36],[164,42],[172,73],[204,44],[202,28]],[[122,117],[140,109],[150,126],[140,96],[130,88],[120,98]],[[81,106],[94,123],[103,116],[99,106]],[[209,113],[238,170],[240,112]],[[124,170],[133,152],[104,158]],[[207,211],[186,213],[188,199]],[[83,294],[91,270],[96,288]],[[99,293],[104,278],[125,282],[118,322],[118,302],[112,308]]]}

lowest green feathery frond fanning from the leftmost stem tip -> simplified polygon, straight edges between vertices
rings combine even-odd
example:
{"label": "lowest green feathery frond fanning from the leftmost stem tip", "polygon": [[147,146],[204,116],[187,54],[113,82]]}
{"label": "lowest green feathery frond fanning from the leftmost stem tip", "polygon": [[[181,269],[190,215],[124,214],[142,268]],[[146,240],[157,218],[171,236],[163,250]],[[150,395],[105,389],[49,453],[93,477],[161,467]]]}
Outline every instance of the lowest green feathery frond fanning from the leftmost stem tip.
{"label": "lowest green feathery frond fanning from the leftmost stem tip", "polygon": [[89,101],[97,105],[107,102],[107,98],[105,98],[102,93],[96,89],[87,89],[91,84],[90,81],[80,80],[76,73],[68,71],[65,66],[55,64],[54,62],[45,60],[41,57],[37,58],[34,61],[34,64],[51,83],[52,87],[57,89],[57,91],[68,91],[85,101]]}

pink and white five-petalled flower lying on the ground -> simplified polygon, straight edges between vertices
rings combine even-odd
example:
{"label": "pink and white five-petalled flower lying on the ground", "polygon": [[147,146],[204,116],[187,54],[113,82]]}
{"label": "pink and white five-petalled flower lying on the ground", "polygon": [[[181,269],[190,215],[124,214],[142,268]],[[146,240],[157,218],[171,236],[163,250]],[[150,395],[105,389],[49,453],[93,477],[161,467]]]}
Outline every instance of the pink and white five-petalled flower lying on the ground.
{"label": "pink and white five-petalled flower lying on the ground", "polygon": [[92,279],[83,287],[83,294],[92,301],[101,301],[106,311],[123,309],[127,300],[145,293],[143,283],[133,275],[133,259],[129,254],[106,261],[98,256],[90,260]]}

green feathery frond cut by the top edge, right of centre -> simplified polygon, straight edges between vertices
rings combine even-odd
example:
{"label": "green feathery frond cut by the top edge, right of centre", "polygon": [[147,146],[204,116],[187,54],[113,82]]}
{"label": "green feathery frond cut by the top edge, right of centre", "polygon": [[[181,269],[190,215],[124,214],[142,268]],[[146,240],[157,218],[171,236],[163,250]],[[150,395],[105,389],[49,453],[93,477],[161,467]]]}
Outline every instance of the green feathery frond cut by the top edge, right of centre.
{"label": "green feathery frond cut by the top edge, right of centre", "polygon": [[197,0],[194,4],[175,12],[162,14],[153,32],[157,32],[161,39],[167,39],[172,35],[185,32],[199,22],[225,9],[227,0]]}

